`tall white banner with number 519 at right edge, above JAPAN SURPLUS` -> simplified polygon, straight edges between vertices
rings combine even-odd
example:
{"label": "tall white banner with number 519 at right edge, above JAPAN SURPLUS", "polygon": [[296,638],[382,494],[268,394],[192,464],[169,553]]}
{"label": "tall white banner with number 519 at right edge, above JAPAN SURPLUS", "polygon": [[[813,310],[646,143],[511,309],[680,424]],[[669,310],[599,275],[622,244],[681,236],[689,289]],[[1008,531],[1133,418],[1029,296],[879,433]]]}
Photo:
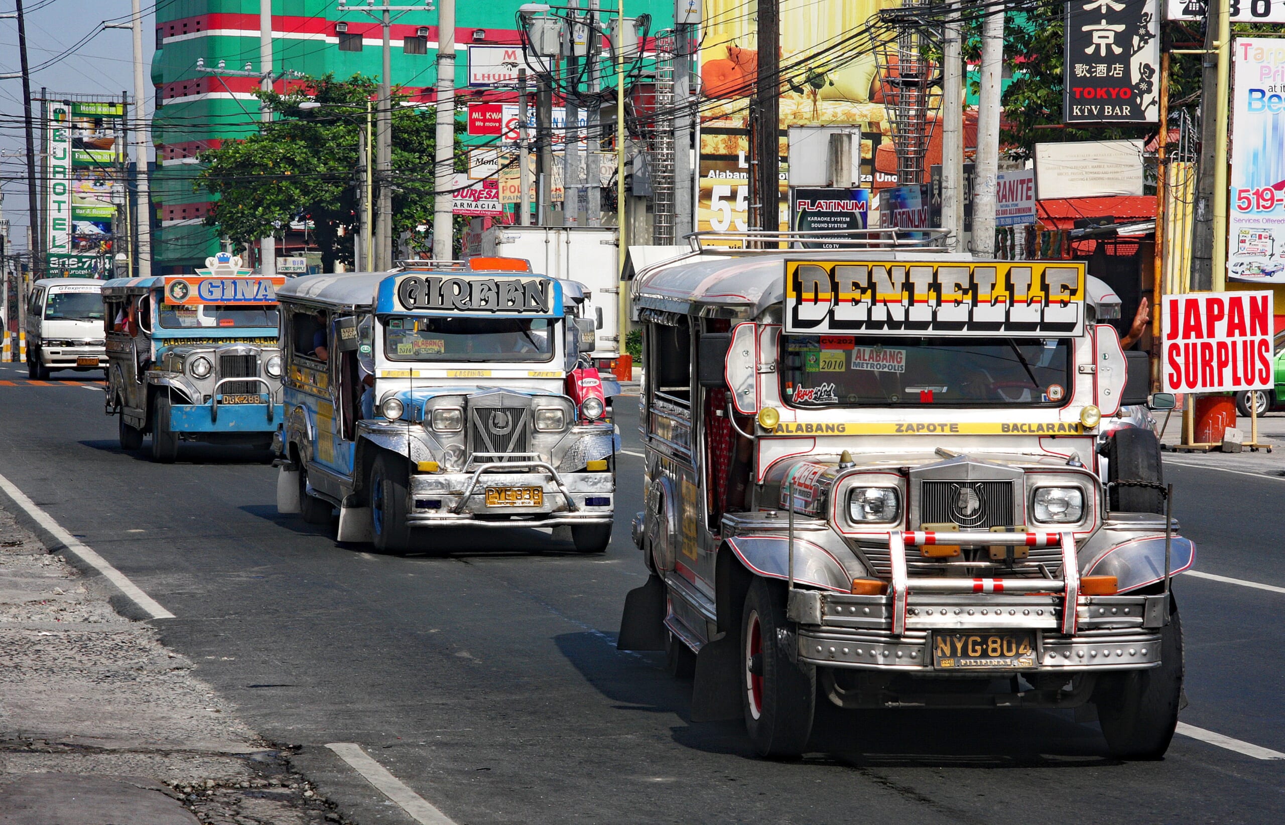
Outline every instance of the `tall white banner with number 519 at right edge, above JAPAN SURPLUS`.
{"label": "tall white banner with number 519 at right edge, above JAPAN SURPLUS", "polygon": [[1232,40],[1227,279],[1285,284],[1285,44]]}

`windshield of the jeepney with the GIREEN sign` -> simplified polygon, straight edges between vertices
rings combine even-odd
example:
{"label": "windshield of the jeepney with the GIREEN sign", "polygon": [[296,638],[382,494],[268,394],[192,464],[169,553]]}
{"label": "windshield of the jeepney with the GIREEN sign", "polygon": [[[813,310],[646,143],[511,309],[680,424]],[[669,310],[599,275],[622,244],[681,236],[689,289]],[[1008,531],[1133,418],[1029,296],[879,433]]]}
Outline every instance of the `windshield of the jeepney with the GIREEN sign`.
{"label": "windshield of the jeepney with the GIREEN sign", "polygon": [[384,355],[394,361],[549,361],[554,319],[389,317]]}

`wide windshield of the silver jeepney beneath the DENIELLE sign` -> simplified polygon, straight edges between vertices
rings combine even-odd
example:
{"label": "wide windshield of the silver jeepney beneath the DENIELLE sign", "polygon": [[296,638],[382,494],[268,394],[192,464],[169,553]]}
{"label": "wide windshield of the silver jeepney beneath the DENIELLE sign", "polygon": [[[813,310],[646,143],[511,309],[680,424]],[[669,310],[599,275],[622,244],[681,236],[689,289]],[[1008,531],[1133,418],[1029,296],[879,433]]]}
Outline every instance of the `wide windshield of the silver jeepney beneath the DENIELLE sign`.
{"label": "wide windshield of the silver jeepney beneath the DENIELLE sign", "polygon": [[1065,338],[781,337],[781,393],[801,409],[1061,406]]}

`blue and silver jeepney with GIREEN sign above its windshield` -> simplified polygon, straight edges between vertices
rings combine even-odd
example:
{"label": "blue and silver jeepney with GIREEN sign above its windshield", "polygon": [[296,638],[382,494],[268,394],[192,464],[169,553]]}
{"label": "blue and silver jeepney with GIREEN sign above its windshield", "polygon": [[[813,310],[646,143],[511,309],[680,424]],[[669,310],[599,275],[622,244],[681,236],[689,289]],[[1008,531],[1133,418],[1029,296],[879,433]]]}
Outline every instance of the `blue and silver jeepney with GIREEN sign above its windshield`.
{"label": "blue and silver jeepney with GIREEN sign above its windshield", "polygon": [[[574,281],[524,261],[298,278],[283,287],[278,509],[405,551],[429,527],[610,540],[618,386],[581,360]],[[504,269],[501,269],[504,267]],[[604,393],[605,391],[605,393]]]}

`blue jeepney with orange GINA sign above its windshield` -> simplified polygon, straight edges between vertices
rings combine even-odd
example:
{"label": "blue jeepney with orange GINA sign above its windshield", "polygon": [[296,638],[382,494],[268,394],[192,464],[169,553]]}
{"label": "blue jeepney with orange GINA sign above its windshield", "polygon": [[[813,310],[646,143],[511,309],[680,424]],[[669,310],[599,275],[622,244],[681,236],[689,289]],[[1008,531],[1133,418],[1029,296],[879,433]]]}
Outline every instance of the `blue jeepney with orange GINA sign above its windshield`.
{"label": "blue jeepney with orange GINA sign above its windshield", "polygon": [[154,461],[172,463],[182,441],[267,448],[281,421],[285,279],[247,275],[233,256],[211,261],[197,275],[103,284],[105,411],[120,416],[122,448],[152,434]]}

